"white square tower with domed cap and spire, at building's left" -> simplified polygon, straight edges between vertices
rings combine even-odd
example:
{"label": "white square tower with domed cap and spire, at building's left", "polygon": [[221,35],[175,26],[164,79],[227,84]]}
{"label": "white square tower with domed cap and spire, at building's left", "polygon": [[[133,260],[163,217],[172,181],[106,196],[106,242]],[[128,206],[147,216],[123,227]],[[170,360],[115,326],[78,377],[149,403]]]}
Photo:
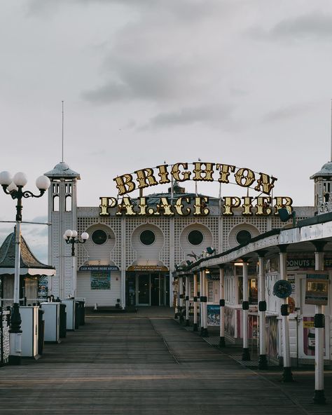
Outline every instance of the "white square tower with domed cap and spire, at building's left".
{"label": "white square tower with domed cap and spire, at building's left", "polygon": [[79,173],[71,170],[67,163],[58,163],[45,173],[50,179],[48,189],[48,264],[56,268],[56,276],[50,278],[49,294],[60,299],[74,294],[76,269],[71,257],[71,246],[62,237],[67,229],[77,229],[77,180]]}

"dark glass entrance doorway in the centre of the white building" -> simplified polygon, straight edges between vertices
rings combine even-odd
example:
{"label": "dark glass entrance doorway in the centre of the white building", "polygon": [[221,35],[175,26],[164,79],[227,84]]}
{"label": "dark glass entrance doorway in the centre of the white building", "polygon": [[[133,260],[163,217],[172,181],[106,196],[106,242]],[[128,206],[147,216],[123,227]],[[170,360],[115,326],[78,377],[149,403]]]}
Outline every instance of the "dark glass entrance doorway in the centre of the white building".
{"label": "dark glass entrance doorway in the centre of the white building", "polygon": [[128,306],[170,305],[170,275],[168,273],[127,273],[126,299]]}

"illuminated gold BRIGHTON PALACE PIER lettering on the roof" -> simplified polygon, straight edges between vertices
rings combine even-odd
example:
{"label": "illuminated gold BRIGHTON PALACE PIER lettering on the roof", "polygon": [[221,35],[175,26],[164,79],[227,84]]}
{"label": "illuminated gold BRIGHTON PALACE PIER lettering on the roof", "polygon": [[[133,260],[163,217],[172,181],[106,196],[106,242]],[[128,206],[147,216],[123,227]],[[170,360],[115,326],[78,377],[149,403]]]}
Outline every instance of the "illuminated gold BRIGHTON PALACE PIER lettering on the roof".
{"label": "illuminated gold BRIGHTON PALACE PIER lettering on the roof", "polygon": [[[116,177],[118,196],[127,195],[134,190],[145,189],[158,184],[186,182],[219,182],[220,184],[234,183],[244,188],[251,188],[259,192],[259,196],[237,196],[223,197],[223,215],[234,215],[235,207],[242,208],[243,216],[268,216],[277,215],[280,207],[286,207],[289,212],[292,210],[293,201],[288,196],[270,196],[277,181],[276,177],[262,172],[254,172],[249,168],[237,168],[235,165],[220,163],[192,163],[193,169],[188,169],[188,163],[176,163],[173,165],[162,164],[155,168],[144,168],[132,174],[125,174]],[[264,193],[265,196],[262,196]],[[171,200],[170,200],[171,199]],[[272,200],[273,199],[273,200]],[[143,196],[137,198],[137,203],[129,196],[122,199],[113,197],[100,198],[100,216],[109,216],[109,209],[116,208],[116,215],[127,216],[187,216],[191,213],[194,216],[209,215],[209,198],[207,196],[179,196],[177,198],[160,197],[159,203],[149,207],[148,198]],[[273,202],[273,204],[272,204]],[[273,206],[273,207],[272,207]],[[253,207],[255,207],[253,212]]]}

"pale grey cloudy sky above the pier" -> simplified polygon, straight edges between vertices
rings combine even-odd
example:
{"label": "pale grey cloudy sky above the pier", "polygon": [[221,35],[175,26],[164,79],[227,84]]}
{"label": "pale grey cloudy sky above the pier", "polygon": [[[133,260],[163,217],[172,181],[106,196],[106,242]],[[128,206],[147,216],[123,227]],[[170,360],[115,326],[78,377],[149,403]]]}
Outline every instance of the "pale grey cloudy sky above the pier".
{"label": "pale grey cloudy sky above the pier", "polygon": [[[331,0],[3,1],[0,171],[34,189],[61,161],[64,100],[79,205],[115,196],[116,175],[198,158],[267,172],[275,195],[312,205],[309,177],[331,158],[331,46]],[[24,220],[46,213],[46,197],[25,200]],[[23,228],[45,261],[46,232]]]}

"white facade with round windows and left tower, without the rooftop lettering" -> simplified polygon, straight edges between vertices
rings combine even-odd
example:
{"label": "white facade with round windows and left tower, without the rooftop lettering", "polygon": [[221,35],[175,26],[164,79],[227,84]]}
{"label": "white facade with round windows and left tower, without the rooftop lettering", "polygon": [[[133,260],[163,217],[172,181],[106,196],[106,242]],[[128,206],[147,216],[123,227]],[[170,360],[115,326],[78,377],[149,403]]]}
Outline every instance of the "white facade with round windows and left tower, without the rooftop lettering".
{"label": "white facade with round windows and left tower, without the rooftop lettering", "polygon": [[[207,247],[216,252],[235,247],[241,231],[253,238],[284,226],[274,211],[256,215],[256,207],[251,215],[243,215],[242,206],[234,207],[233,215],[224,215],[219,198],[209,198],[208,215],[195,215],[195,197],[200,195],[185,193],[177,183],[168,193],[145,198],[155,211],[160,198],[167,198],[171,205],[179,198],[190,198],[182,207],[184,212],[190,208],[188,215],[178,215],[178,211],[172,215],[125,215],[125,207],[120,210],[118,206],[109,207],[108,216],[100,215],[97,201],[95,207],[77,206],[80,175],[66,163],[59,163],[46,176],[51,181],[48,260],[57,270],[56,276],[50,278],[49,294],[83,297],[88,306],[172,305],[172,273],[179,264],[193,260],[193,254],[200,256]],[[132,203],[137,210],[139,198],[132,199]],[[314,207],[293,209],[297,219],[314,215]],[[90,235],[85,244],[75,246],[75,257],[71,257],[71,247],[62,237],[66,229],[76,229],[78,236],[83,232]],[[217,290],[216,283],[216,298]]]}

